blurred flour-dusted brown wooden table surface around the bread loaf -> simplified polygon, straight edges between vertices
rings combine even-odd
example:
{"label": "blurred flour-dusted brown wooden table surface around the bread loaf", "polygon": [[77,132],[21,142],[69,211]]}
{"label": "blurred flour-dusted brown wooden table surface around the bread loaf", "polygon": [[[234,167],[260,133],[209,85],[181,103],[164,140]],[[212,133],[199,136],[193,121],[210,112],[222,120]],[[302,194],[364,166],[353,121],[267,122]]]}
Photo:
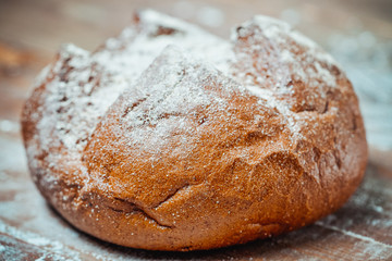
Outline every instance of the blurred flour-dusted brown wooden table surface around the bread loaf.
{"label": "blurred flour-dusted brown wooden table surface around the bread loaf", "polygon": [[[186,18],[223,37],[232,25],[264,13],[289,21],[331,51],[358,91],[370,147],[366,176],[350,201],[287,235],[188,253],[102,243],[46,204],[29,178],[20,136],[32,82],[62,42],[93,50],[120,33],[138,8]],[[0,260],[392,260],[391,39],[389,0],[0,0]]]}

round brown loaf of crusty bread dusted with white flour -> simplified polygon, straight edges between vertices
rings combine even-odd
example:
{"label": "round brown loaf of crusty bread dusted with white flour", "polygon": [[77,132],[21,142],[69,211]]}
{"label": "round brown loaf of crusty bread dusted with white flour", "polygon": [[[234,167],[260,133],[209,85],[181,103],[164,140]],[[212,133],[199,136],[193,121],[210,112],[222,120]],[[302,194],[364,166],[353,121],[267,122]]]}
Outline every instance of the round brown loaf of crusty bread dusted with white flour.
{"label": "round brown loaf of crusty bread dusted with white flour", "polygon": [[197,250],[305,226],[362,181],[358,101],[334,60],[256,16],[231,41],[143,11],[95,52],[72,45],[23,110],[34,182],[78,229]]}

